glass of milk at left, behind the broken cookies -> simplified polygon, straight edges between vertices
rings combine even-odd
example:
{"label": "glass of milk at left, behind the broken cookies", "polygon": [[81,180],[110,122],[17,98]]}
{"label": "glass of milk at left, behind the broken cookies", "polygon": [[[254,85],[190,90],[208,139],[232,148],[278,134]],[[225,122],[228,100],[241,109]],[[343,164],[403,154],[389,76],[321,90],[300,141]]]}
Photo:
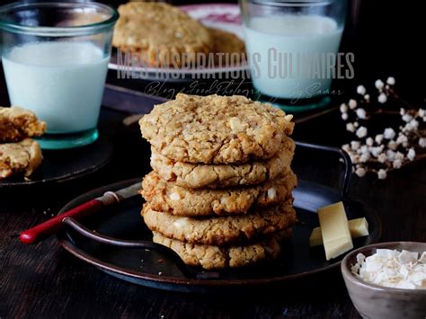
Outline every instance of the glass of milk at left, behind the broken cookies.
{"label": "glass of milk at left, behind the broken cookies", "polygon": [[45,149],[85,146],[97,122],[118,13],[105,4],[0,7],[2,62],[12,105],[47,122]]}

